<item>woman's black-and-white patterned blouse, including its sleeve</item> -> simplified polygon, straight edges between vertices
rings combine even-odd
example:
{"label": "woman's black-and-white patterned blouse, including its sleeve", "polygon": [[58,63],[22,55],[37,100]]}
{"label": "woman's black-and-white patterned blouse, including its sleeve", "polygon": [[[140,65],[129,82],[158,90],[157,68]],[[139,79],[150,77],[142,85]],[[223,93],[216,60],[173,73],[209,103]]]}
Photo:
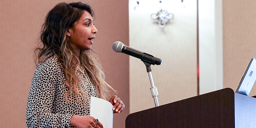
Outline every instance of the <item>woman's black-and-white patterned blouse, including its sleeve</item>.
{"label": "woman's black-and-white patterned blouse, including its sleeve", "polygon": [[[86,74],[84,68],[82,71]],[[99,97],[96,87],[89,77],[79,75],[79,82],[83,91],[90,98]],[[81,96],[68,96],[70,103],[65,100],[68,88],[65,85],[65,76],[62,65],[57,57],[48,58],[37,66],[32,79],[27,99],[26,122],[28,128],[71,128],[72,115],[90,115],[89,101]]]}

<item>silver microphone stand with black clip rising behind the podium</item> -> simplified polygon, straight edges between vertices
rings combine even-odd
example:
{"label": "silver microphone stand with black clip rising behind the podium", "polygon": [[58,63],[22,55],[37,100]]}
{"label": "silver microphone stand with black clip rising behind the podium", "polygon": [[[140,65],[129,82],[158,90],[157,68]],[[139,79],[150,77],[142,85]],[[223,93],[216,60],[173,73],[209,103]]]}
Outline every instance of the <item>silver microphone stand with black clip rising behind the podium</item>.
{"label": "silver microphone stand with black clip rising behind the podium", "polygon": [[149,75],[149,80],[150,80],[150,84],[151,84],[151,88],[150,88],[150,91],[151,91],[151,95],[152,97],[154,98],[154,101],[155,101],[155,106],[160,106],[160,103],[159,103],[159,100],[158,100],[158,91],[157,91],[157,88],[154,84],[154,81],[153,81],[153,76],[152,76],[152,71],[151,71],[151,64],[147,63],[147,62],[144,62],[142,61],[145,66],[146,66],[146,69],[147,69],[147,73]]}

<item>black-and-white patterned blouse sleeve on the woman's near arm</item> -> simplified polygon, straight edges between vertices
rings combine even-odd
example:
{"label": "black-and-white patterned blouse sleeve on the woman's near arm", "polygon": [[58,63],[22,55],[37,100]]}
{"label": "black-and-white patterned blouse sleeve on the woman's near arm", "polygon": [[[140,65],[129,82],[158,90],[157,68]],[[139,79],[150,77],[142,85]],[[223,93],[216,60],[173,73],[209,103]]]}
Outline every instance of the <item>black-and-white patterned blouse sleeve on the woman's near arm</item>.
{"label": "black-and-white patterned blouse sleeve on the woman's near arm", "polygon": [[57,62],[44,62],[37,66],[27,100],[26,123],[28,128],[70,128],[71,114],[54,112]]}

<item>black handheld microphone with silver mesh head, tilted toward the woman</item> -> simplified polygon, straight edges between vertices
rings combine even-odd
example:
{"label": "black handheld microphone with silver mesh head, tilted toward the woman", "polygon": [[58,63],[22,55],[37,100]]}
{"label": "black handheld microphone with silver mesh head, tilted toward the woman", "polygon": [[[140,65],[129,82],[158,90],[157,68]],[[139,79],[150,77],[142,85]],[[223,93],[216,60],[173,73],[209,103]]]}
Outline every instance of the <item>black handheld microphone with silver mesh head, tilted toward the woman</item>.
{"label": "black handheld microphone with silver mesh head, tilted toward the woman", "polygon": [[115,51],[115,52],[122,52],[122,53],[125,53],[127,55],[130,55],[130,56],[133,56],[133,57],[136,57],[136,58],[139,58],[141,61],[143,62],[147,62],[149,64],[152,64],[152,65],[160,65],[162,60],[158,57],[154,57],[150,54],[147,54],[145,52],[141,52],[139,50],[136,50],[134,48],[131,48],[129,46],[126,46],[124,45],[122,42],[120,41],[116,41],[113,43],[112,45],[112,49]]}

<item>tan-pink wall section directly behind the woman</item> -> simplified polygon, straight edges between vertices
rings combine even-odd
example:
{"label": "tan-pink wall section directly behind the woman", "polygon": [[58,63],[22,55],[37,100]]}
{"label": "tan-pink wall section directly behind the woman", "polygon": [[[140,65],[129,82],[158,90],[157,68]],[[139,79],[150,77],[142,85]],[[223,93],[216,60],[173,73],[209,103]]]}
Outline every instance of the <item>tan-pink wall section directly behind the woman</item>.
{"label": "tan-pink wall section directly behind the woman", "polygon": [[[0,2],[0,127],[25,128],[27,96],[34,75],[33,47],[46,13],[61,0]],[[129,114],[128,56],[112,50],[116,40],[129,42],[128,1],[82,0],[95,11],[98,29],[93,48],[98,52],[106,81],[126,103],[121,114],[114,114],[114,127],[124,128]]]}

